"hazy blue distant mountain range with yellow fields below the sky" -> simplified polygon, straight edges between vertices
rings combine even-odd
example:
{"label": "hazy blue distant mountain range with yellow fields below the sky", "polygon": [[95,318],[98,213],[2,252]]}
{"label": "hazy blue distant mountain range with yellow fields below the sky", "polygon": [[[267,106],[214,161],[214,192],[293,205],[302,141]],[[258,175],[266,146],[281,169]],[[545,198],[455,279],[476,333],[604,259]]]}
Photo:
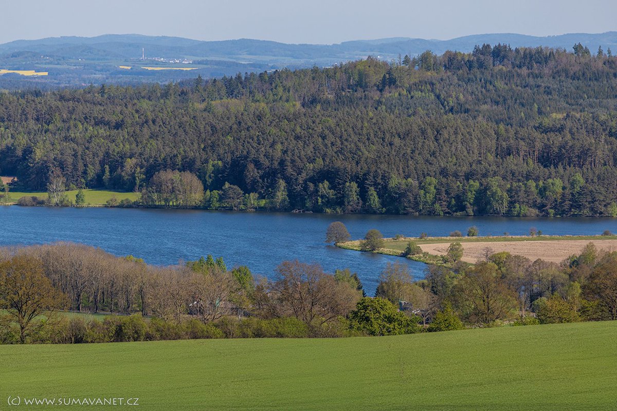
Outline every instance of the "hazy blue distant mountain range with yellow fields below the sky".
{"label": "hazy blue distant mountain range with yellow fields below the sky", "polygon": [[[469,52],[476,44],[510,44],[511,47],[560,47],[571,50],[582,43],[592,52],[598,46],[617,52],[617,31],[600,34],[572,33],[536,37],[511,33],[484,34],[450,40],[385,38],[346,41],[340,44],[285,44],[275,41],[237,39],[199,41],[178,37],[103,35],[17,40],[0,44],[0,69],[36,70],[48,75],[0,75],[0,87],[80,86],[101,83],[170,81],[183,78],[234,75],[238,72],[325,67],[338,62],[373,55],[398,59],[426,50],[442,54],[447,50]],[[142,60],[144,51],[146,60]],[[190,62],[190,63],[189,63]],[[130,67],[121,69],[120,66]],[[141,67],[184,67],[195,70],[145,70]],[[33,85],[33,84],[31,84]]]}

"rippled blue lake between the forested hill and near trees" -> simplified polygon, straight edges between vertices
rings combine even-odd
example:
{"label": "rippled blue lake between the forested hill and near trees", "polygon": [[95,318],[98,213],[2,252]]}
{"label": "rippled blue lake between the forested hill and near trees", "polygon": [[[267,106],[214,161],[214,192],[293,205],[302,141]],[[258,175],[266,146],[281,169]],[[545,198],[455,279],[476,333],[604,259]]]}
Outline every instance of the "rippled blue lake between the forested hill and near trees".
{"label": "rippled blue lake between the forested hill and near trees", "polygon": [[328,272],[357,272],[366,293],[373,295],[387,262],[403,262],[417,279],[425,265],[394,256],[358,253],[324,243],[333,221],[342,221],[352,238],[369,229],[385,237],[463,234],[476,226],[480,235],[525,235],[530,227],[551,235],[617,232],[611,218],[499,218],[375,216],[366,214],[234,213],[203,210],[135,208],[52,208],[0,206],[0,245],[72,241],[101,247],[118,256],[133,254],[150,264],[176,264],[212,254],[228,267],[248,266],[254,275],[270,277],[284,260],[318,262]]}

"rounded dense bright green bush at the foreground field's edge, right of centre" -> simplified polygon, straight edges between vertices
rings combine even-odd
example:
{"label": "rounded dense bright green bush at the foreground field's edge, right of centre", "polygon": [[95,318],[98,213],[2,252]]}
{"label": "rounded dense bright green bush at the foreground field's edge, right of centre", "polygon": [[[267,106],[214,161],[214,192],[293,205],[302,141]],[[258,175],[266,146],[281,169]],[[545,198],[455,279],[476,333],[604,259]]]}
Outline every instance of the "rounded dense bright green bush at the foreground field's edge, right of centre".
{"label": "rounded dense bright green bush at the foreground field's edge, right of centre", "polygon": [[349,314],[350,328],[368,335],[400,335],[421,331],[418,317],[408,317],[385,298],[364,297]]}

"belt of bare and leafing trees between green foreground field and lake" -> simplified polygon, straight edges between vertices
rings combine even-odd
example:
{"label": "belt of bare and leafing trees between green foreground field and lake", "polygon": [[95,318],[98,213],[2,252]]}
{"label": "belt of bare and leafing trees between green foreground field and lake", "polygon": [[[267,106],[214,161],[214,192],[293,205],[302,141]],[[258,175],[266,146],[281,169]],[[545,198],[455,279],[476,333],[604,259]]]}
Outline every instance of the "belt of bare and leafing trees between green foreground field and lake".
{"label": "belt of bare and leafing trees between green foreground field and lake", "polygon": [[[358,275],[284,261],[270,279],[222,258],[155,267],[84,245],[0,248],[0,343],[396,335],[465,327],[617,319],[617,253],[593,244],[561,264],[487,253],[388,264],[375,298]],[[372,294],[372,290],[370,290]],[[59,309],[106,315],[103,321]]]}

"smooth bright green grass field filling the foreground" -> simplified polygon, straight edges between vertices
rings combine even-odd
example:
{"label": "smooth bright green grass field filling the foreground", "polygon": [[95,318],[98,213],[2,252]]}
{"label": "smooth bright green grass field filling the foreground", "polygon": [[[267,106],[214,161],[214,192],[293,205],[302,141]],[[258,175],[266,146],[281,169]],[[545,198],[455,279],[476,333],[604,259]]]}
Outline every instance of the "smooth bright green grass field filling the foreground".
{"label": "smooth bright green grass field filling the foreground", "polygon": [[615,410],[616,342],[617,322],[588,322],[325,340],[0,346],[0,409],[20,396],[139,397],[142,410]]}

